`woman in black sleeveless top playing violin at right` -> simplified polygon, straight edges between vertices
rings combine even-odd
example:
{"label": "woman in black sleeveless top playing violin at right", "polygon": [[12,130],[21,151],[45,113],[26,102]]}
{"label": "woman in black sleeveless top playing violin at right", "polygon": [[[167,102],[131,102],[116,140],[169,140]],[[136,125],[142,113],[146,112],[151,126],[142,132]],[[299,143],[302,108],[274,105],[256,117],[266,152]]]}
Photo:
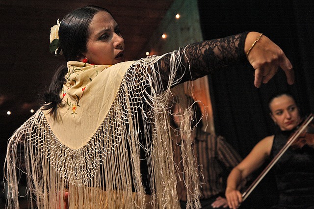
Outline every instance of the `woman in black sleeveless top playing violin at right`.
{"label": "woman in black sleeveless top playing violin at right", "polygon": [[[289,93],[272,96],[268,106],[269,114],[280,131],[262,139],[231,171],[227,180],[226,198],[232,209],[238,208],[242,202],[241,193],[237,190],[241,181],[260,168],[267,158],[275,157],[301,122],[299,108]],[[272,208],[314,207],[313,134],[303,135],[302,140],[298,140],[294,146],[288,148],[274,165],[274,169],[279,200]]]}

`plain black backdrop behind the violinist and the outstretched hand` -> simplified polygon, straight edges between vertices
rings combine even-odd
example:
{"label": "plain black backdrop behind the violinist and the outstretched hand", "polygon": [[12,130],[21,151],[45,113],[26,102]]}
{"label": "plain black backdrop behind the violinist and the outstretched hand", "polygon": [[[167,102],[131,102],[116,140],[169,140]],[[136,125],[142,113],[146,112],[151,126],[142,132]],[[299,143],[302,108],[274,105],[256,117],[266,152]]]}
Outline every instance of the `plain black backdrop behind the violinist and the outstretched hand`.
{"label": "plain black backdrop behind the violinist and the outstretched hand", "polygon": [[[225,136],[245,157],[258,141],[274,132],[266,104],[274,92],[288,90],[304,115],[314,112],[314,2],[199,0],[198,4],[204,39],[243,31],[262,32],[284,50],[294,67],[295,84],[291,86],[280,70],[269,83],[254,87],[253,68],[248,62],[215,72],[209,78],[216,134]],[[273,185],[270,173],[242,208],[270,207],[276,199]]]}

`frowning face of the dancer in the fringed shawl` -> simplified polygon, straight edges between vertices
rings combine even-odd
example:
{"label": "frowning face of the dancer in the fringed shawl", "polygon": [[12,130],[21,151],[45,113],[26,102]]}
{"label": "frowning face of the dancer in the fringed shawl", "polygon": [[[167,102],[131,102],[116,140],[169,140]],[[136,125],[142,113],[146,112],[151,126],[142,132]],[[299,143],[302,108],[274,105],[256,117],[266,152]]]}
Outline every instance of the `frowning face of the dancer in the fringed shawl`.
{"label": "frowning face of the dancer in the fringed shawl", "polygon": [[89,25],[87,51],[82,53],[91,64],[113,65],[124,59],[124,39],[112,16],[105,11],[95,14]]}

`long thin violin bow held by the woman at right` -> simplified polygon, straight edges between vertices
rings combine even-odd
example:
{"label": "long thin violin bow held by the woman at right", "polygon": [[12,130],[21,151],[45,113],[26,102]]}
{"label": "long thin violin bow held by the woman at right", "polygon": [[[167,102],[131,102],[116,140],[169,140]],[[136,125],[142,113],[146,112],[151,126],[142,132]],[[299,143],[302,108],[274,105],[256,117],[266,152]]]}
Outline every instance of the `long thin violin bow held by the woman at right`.
{"label": "long thin violin bow held by the woman at right", "polygon": [[286,150],[290,147],[290,145],[299,137],[299,135],[306,129],[306,127],[313,120],[314,115],[311,113],[302,125],[290,136],[285,146],[278,152],[278,154],[270,161],[270,163],[264,168],[262,173],[256,178],[256,180],[243,192],[242,199],[243,201],[251,194],[251,192],[255,189],[255,187],[262,181],[264,176],[268,173],[268,171],[275,165],[275,163],[279,160],[279,158],[286,152]]}

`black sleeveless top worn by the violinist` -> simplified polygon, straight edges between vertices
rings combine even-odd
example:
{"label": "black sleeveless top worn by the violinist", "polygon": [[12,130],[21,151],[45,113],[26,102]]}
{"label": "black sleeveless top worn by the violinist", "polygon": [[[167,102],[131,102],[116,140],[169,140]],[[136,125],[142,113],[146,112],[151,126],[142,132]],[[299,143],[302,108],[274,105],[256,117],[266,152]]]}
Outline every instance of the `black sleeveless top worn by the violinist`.
{"label": "black sleeveless top worn by the violinist", "polygon": [[[286,144],[291,131],[275,134],[270,157]],[[274,165],[279,202],[274,208],[314,209],[314,149],[308,145],[288,150]]]}

